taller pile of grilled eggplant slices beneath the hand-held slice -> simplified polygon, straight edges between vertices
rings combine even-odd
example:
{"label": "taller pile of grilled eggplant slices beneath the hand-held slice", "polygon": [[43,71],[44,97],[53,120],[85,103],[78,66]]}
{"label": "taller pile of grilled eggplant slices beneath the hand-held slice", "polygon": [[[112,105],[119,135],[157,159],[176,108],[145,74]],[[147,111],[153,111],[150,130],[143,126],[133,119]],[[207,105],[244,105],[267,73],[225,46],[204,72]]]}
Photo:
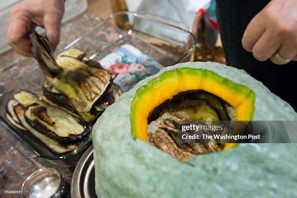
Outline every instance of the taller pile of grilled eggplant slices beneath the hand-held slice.
{"label": "taller pile of grilled eggplant slices beneath the hand-held slice", "polygon": [[56,57],[63,69],[56,77],[45,75],[44,95],[92,122],[122,94],[119,86],[112,83],[116,74],[104,69],[86,53],[73,48]]}

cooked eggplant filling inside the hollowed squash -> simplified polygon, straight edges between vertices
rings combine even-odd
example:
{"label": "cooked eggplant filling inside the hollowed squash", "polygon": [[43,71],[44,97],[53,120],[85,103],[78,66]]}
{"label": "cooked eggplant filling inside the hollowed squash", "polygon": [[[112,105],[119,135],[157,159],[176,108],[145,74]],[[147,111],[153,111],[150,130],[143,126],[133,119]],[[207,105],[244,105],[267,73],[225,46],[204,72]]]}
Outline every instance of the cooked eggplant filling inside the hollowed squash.
{"label": "cooked eggplant filling inside the hollowed squash", "polygon": [[211,125],[210,121],[236,120],[233,106],[203,90],[178,94],[170,102],[157,107],[152,116],[160,108],[159,117],[148,125],[147,141],[181,161],[191,156],[221,151],[225,144],[178,143],[178,121],[203,121],[205,125]]}

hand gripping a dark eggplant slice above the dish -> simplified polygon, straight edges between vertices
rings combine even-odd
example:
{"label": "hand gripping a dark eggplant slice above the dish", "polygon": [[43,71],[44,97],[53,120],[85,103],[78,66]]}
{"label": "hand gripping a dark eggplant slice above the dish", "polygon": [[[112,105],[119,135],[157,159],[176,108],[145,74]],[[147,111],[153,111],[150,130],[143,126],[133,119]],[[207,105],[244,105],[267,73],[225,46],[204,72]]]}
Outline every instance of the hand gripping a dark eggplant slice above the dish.
{"label": "hand gripping a dark eggplant slice above the dish", "polygon": [[60,39],[60,26],[65,0],[23,0],[10,11],[7,30],[8,44],[23,56],[33,56],[30,36],[36,26],[45,28],[45,34],[53,50]]}

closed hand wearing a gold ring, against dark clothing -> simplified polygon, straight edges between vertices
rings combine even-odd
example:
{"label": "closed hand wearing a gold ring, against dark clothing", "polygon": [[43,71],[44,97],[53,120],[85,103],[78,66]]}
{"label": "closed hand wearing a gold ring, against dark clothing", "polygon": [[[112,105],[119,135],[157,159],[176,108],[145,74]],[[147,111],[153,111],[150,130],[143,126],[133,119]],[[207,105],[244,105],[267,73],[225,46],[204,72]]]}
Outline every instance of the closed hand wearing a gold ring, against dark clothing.
{"label": "closed hand wearing a gold ring, against dark clothing", "polygon": [[270,1],[247,26],[242,45],[259,61],[297,61],[297,0]]}

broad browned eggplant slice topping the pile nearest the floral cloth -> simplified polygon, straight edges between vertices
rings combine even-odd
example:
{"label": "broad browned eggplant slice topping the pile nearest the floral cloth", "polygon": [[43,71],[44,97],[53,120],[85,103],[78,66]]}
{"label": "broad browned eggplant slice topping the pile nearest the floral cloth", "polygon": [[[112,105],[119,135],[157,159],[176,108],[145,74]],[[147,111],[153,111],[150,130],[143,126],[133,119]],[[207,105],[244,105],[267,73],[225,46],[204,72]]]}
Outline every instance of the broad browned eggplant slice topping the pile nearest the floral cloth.
{"label": "broad browned eggplant slice topping the pile nearest the floral cloth", "polygon": [[63,72],[54,78],[45,75],[45,79],[78,112],[90,112],[93,104],[104,94],[115,75],[103,68],[88,66],[69,56],[58,56],[56,61]]}

